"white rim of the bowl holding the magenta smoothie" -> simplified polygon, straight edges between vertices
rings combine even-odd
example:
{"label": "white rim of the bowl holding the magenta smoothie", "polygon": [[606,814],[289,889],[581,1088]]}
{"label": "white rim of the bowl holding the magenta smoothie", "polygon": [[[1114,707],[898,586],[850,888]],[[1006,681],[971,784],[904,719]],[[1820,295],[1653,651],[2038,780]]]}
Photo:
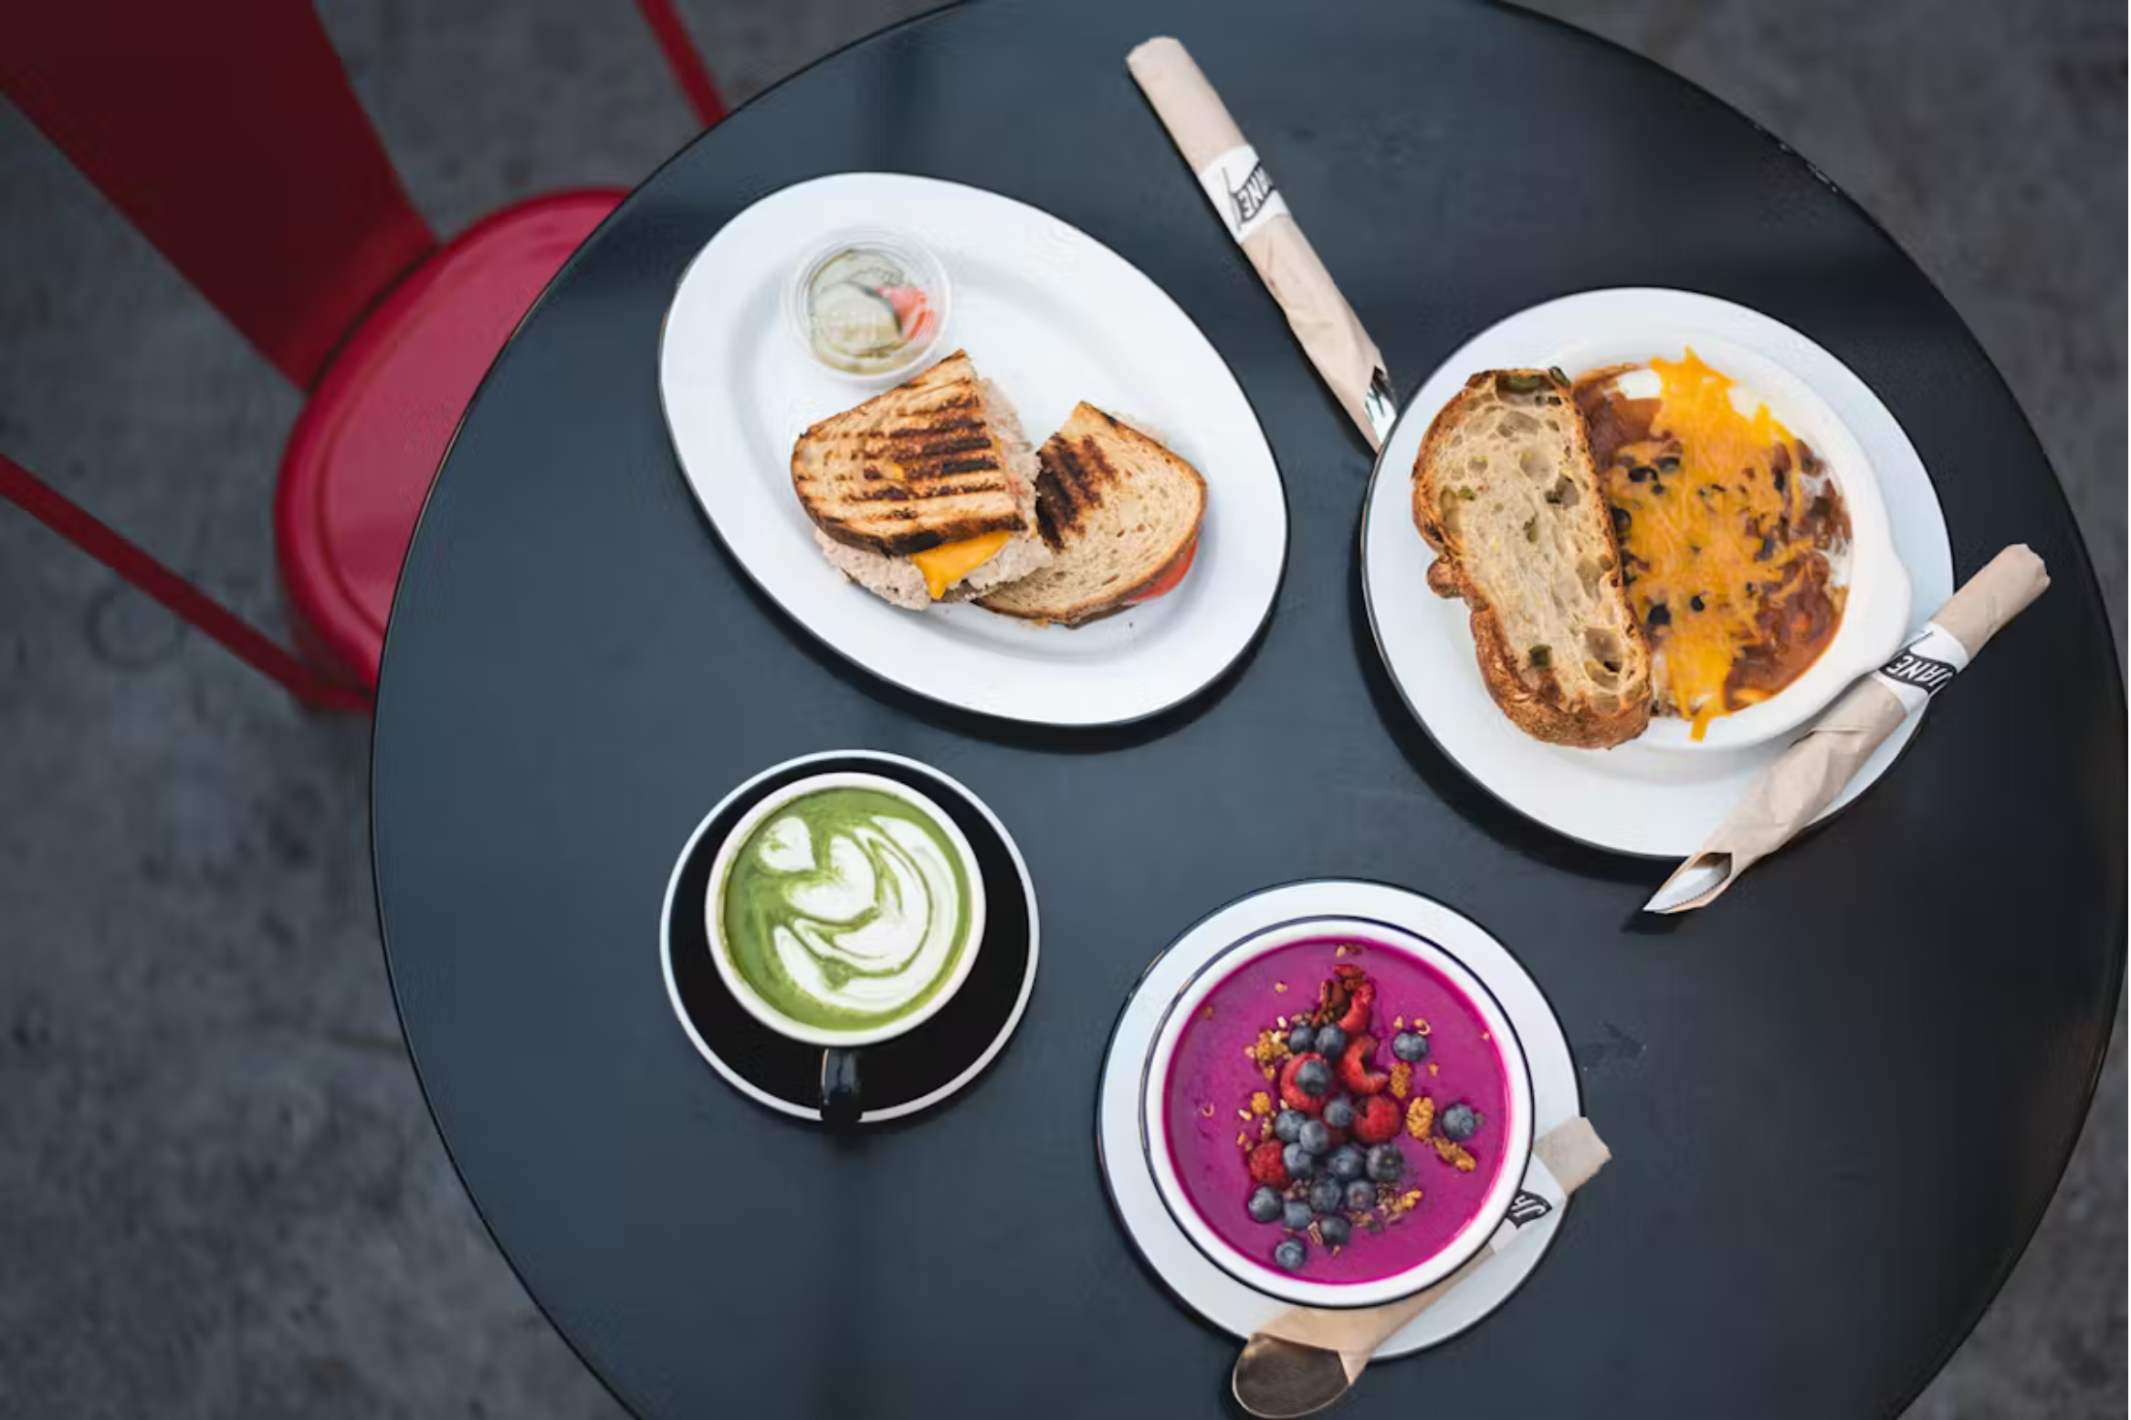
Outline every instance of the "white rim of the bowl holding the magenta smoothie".
{"label": "white rim of the bowl holding the magenta smoothie", "polygon": [[[1496,1147],[1502,1150],[1502,1167],[1481,1199],[1479,1211],[1458,1228],[1441,1252],[1421,1258],[1404,1271],[1372,1277],[1370,1282],[1311,1282],[1300,1273],[1276,1269],[1266,1258],[1238,1252],[1200,1218],[1198,1207],[1185,1194],[1183,1179],[1176,1175],[1176,1162],[1170,1154],[1166,1090],[1185,1024],[1198,1016],[1206,996],[1236,971],[1268,952],[1279,952],[1298,941],[1366,941],[1372,950],[1398,952],[1419,960],[1464,992],[1502,1056],[1507,1118],[1492,1120],[1492,1124],[1500,1126]],[[1494,1231],[1509,1216],[1509,1205],[1524,1186],[1524,1173],[1532,1158],[1532,1073],[1524,1060],[1524,1045],[1517,1041],[1517,1030],[1511,1026],[1509,1013],[1502,1011],[1494,994],[1455,956],[1432,941],[1385,922],[1306,918],[1245,937],[1206,962],[1176,994],[1176,1001],[1170,1003],[1161,1026],[1155,1030],[1140,1077],[1140,1143],[1146,1147],[1146,1162],[1155,1175],[1155,1192],[1161,1194],[1161,1205],[1170,1211],[1170,1218],[1191,1239],[1191,1245],[1236,1282],[1300,1307],[1379,1307],[1449,1277],[1487,1245],[1487,1239],[1494,1237]],[[1240,1199],[1236,1203],[1238,1207],[1242,1205]]]}

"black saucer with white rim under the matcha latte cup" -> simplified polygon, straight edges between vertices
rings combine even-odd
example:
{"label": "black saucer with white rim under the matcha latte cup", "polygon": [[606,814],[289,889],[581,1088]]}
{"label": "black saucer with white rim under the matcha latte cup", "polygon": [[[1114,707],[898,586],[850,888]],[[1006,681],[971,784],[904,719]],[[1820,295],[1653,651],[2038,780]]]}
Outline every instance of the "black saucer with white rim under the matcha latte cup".
{"label": "black saucer with white rim under the matcha latte cup", "polygon": [[[955,820],[985,879],[985,939],[955,998],[893,1041],[865,1045],[865,1124],[938,1105],[972,1084],[1021,1024],[1036,986],[1036,884],[991,809],[938,769],[874,749],[788,760],[727,794],[673,866],[658,926],[667,996],[697,1052],[742,1094],[801,1120],[820,1118],[820,1045],[791,1041],[733,1001],[710,958],[703,901],[710,864],[733,824],[786,783],[827,773],[867,773],[908,783]],[[712,1045],[716,1041],[716,1047]]]}

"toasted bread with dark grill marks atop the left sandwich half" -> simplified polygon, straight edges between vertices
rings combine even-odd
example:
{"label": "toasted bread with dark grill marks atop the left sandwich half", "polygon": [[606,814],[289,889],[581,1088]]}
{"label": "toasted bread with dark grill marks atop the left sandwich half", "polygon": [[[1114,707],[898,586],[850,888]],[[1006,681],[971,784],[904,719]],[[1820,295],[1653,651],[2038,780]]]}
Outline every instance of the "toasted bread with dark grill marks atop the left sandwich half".
{"label": "toasted bread with dark grill marks atop the left sandwich half", "polygon": [[793,490],[814,526],[891,558],[1029,530],[1019,483],[963,351],[793,445]]}

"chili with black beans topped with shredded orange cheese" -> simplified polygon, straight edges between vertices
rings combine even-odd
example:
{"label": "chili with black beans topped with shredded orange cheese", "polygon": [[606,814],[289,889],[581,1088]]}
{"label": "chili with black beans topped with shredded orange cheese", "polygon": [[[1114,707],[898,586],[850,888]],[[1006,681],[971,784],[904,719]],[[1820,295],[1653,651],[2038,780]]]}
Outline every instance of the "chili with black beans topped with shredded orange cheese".
{"label": "chili with black beans topped with shredded orange cheese", "polygon": [[1575,381],[1575,400],[1658,709],[1703,739],[1713,717],[1784,690],[1835,639],[1850,513],[1805,441],[1764,404],[1739,413],[1733,381],[1692,349],[1647,368],[1654,398],[1624,396],[1626,368],[1609,368]]}

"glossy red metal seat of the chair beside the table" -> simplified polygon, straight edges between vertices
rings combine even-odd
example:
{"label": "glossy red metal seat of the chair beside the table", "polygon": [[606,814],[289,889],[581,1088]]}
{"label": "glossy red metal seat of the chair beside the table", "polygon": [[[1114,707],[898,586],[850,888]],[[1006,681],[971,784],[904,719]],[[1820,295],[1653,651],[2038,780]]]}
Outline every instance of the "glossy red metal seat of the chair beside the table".
{"label": "glossy red metal seat of the chair beside the table", "polygon": [[281,579],[315,651],[377,686],[416,517],[497,351],[622,192],[507,207],[445,245],[347,336],[305,404],[275,496]]}

